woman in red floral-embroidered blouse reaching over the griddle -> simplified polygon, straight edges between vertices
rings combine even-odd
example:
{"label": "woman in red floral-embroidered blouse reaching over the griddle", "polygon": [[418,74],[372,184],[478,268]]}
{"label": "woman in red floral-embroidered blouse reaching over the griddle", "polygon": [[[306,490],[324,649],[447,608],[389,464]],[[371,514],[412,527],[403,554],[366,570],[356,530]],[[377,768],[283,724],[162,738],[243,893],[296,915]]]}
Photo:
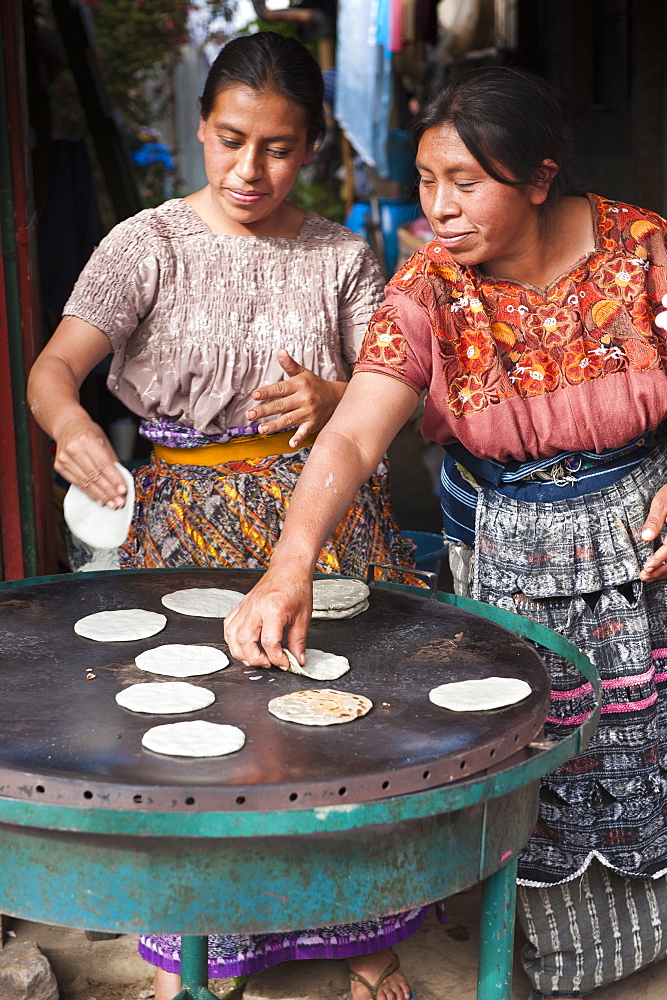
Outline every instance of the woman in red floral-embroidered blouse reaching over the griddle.
{"label": "woman in red floral-embroidered blouse reaching over the griddle", "polygon": [[[436,238],[389,283],[225,634],[235,656],[284,666],[288,626],[303,655],[319,546],[426,390],[448,533],[474,546],[470,596],[562,633],[602,677],[598,731],[544,779],[519,861],[531,996],[566,1000],[667,951],[667,224],[566,193],[560,110],[523,71],[463,75],[415,138]],[[320,488],[331,469],[337,493]],[[558,739],[592,690],[547,665]]]}

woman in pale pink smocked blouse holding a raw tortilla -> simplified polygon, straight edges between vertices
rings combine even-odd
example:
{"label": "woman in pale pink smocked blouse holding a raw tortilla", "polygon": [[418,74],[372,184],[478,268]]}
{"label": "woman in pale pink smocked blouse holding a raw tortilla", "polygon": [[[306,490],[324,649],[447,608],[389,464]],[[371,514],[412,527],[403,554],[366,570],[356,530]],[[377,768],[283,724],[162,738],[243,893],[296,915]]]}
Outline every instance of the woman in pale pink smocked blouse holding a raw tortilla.
{"label": "woman in pale pink smocked blouse holding a raw tortilla", "polygon": [[[153,443],[135,472],[123,568],[268,564],[315,434],[345,389],[383,279],[356,234],[286,199],[324,129],[319,66],[294,39],[260,32],[211,67],[198,138],[208,185],[118,225],[84,269],[35,364],[30,402],[56,470],[122,507],[113,449],[79,404],[112,352],[108,385]],[[319,554],[321,572],[414,568],[383,460]],[[212,934],[212,978],[295,958],[348,958],[354,1000],[409,1000],[391,945],[425,910],[259,936]],[[142,937],[156,1000],[178,992],[180,939]]]}

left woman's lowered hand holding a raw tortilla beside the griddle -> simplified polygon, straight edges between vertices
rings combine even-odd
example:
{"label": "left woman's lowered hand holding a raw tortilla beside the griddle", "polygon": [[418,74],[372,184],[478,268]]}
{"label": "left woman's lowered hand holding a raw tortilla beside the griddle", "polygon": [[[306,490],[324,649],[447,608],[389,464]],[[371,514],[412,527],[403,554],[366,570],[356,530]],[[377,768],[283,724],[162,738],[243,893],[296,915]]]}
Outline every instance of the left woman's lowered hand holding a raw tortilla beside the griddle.
{"label": "left woman's lowered hand holding a raw tortilla beside the griddle", "polygon": [[56,472],[97,503],[123,507],[127,487],[114,462],[118,457],[94,421],[77,415],[59,429],[56,440]]}

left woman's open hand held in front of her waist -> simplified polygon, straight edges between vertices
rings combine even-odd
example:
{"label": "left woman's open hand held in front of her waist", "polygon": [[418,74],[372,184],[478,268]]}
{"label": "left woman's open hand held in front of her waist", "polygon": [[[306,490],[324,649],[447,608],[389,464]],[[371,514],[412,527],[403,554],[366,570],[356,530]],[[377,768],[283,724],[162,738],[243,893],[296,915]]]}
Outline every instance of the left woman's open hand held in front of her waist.
{"label": "left woman's open hand held in front of her waist", "polygon": [[260,424],[260,434],[274,434],[298,424],[290,439],[290,448],[298,448],[309,434],[324,427],[342,399],[346,383],[320,378],[297,364],[283,348],[278,351],[278,361],[289,378],[254,389],[252,398],[267,402],[246,410],[246,417],[268,420]]}

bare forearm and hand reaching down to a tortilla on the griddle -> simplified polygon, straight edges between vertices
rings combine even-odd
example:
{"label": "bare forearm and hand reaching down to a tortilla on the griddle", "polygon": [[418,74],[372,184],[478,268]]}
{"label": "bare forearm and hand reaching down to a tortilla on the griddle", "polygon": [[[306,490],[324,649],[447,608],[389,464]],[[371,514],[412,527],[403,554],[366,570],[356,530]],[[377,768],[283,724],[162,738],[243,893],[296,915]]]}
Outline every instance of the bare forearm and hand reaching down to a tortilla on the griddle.
{"label": "bare forearm and hand reaching down to a tortilla on the griddle", "polygon": [[386,375],[359,372],[352,378],[299,477],[269,569],[225,619],[232,656],[252,666],[287,667],[281,643],[288,626],[287,645],[304,662],[320,549],[417,399],[414,389]]}

